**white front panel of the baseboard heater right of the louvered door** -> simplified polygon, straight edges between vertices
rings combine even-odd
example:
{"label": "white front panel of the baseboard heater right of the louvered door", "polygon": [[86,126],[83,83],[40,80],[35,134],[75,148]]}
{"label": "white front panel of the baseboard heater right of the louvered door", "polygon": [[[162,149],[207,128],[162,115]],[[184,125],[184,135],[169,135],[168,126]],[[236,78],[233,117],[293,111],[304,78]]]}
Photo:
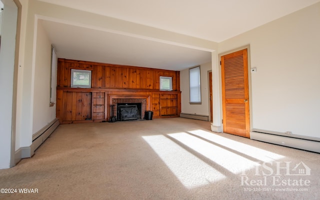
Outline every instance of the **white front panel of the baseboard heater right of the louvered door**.
{"label": "white front panel of the baseboard heater right of the louvered door", "polygon": [[254,132],[254,131],[250,132],[250,139],[320,153],[319,141],[288,137],[288,136],[282,136],[282,135],[276,135],[276,134],[269,134],[269,133],[262,133],[262,132]]}

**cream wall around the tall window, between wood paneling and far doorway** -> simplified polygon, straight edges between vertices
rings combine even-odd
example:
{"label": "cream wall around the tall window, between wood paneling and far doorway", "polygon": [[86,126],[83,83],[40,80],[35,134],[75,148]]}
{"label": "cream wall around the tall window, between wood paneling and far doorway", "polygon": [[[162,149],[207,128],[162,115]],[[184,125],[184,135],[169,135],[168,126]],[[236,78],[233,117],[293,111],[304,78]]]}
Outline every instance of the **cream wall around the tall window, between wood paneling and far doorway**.
{"label": "cream wall around the tall window, between wood paneling and far doorway", "polygon": [[209,115],[208,71],[211,62],[200,65],[201,104],[189,103],[189,69],[180,71],[181,112],[188,114]]}

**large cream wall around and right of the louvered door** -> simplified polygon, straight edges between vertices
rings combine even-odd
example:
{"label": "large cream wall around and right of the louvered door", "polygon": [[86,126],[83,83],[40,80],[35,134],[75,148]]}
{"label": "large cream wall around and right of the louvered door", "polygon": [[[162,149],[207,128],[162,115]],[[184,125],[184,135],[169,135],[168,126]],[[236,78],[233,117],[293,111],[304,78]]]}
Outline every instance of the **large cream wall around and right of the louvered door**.
{"label": "large cream wall around and right of the louvered door", "polygon": [[220,42],[249,44],[251,128],[320,137],[320,2]]}

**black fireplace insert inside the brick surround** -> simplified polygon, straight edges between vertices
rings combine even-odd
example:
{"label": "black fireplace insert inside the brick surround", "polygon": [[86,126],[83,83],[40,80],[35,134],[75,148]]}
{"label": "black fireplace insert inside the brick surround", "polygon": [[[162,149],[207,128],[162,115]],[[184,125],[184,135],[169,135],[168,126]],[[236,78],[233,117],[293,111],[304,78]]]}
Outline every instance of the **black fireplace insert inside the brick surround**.
{"label": "black fireplace insert inside the brick surround", "polygon": [[117,120],[141,119],[141,103],[117,103]]}

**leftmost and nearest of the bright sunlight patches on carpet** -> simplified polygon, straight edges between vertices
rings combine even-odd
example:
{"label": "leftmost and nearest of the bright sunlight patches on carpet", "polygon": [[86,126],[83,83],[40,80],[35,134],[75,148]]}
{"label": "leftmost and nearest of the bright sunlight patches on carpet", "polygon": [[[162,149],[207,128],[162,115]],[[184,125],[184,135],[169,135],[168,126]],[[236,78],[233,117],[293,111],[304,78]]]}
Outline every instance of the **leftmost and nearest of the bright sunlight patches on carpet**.
{"label": "leftmost and nearest of the bright sunlight patches on carpet", "polygon": [[142,136],[186,188],[224,179],[225,176],[164,135]]}

